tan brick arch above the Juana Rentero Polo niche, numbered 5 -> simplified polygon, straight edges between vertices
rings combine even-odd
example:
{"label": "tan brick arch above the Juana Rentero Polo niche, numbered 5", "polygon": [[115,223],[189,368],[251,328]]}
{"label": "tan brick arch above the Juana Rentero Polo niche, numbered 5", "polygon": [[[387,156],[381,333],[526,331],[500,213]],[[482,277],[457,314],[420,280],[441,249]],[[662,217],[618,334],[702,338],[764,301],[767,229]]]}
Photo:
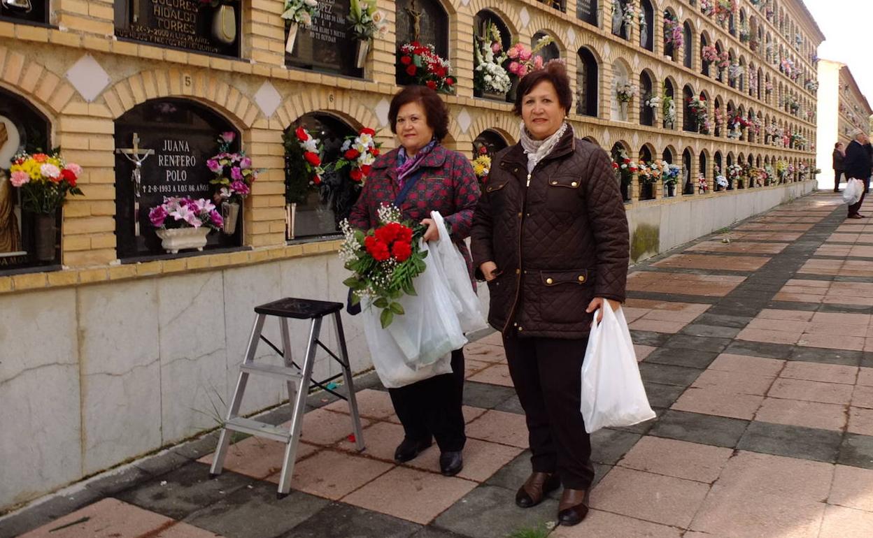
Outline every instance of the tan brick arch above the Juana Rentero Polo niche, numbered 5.
{"label": "tan brick arch above the Juana Rentero Polo niche, numbered 5", "polygon": [[260,108],[231,85],[224,83],[210,72],[196,72],[186,78],[175,69],[155,69],[138,72],[114,83],[102,94],[113,119],[150,99],[191,99],[220,112],[225,119],[237,126],[248,128],[258,116]]}

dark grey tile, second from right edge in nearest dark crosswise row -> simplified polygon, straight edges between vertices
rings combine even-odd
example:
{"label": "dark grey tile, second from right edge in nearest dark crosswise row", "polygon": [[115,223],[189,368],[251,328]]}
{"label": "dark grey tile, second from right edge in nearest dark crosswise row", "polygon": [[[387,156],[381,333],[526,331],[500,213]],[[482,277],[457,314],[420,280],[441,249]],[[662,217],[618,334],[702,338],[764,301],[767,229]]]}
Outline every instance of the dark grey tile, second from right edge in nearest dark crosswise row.
{"label": "dark grey tile, second from right edge in nearest dark crosswise row", "polygon": [[841,441],[842,432],[754,420],[739,439],[737,448],[833,463]]}

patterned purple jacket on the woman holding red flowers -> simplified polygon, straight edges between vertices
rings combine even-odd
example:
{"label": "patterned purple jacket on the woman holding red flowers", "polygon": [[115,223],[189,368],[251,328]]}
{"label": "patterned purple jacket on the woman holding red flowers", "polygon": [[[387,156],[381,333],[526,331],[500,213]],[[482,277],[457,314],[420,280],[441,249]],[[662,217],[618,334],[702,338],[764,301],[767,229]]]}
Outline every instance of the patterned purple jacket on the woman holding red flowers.
{"label": "patterned purple jacket on the woman holding red flowers", "polygon": [[[399,151],[397,148],[382,153],[373,163],[373,170],[361,190],[361,196],[348,217],[354,228],[375,228],[379,223],[376,211],[383,203],[393,203],[397,194],[400,194],[395,172]],[[435,146],[430,155],[424,158],[421,167],[424,174],[416,181],[400,207],[403,218],[420,222],[430,218],[431,211],[439,211],[445,218],[452,241],[464,255],[475,289],[470,249],[464,243],[464,239],[470,236],[473,210],[479,201],[479,183],[476,174],[473,174],[473,167],[464,155],[440,145]]]}

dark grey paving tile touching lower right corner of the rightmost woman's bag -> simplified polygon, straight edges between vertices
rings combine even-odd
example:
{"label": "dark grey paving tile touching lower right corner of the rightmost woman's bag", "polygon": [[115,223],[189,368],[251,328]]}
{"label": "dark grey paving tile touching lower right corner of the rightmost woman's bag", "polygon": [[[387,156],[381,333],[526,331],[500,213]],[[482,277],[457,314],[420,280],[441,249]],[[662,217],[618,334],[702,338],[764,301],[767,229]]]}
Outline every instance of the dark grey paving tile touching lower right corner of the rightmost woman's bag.
{"label": "dark grey paving tile touching lower right corner of the rightmost woman's bag", "polygon": [[747,420],[728,419],[696,412],[669,410],[649,431],[656,437],[667,437],[703,445],[737,446],[746,431]]}

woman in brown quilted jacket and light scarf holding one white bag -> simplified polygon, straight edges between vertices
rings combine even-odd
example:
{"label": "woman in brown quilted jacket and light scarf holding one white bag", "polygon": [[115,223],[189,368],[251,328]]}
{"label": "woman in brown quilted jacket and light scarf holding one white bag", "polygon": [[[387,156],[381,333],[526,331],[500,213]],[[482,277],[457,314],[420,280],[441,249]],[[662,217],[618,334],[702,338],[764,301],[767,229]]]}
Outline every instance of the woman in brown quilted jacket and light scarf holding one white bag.
{"label": "woman in brown quilted jacket and light scarf holding one white bag", "polygon": [[503,333],[525,409],[533,473],[515,502],[533,507],[564,486],[558,520],[588,514],[595,477],[580,412],[581,366],[595,310],[624,301],[628,221],[611,162],[576,139],[564,65],[519,83],[521,141],[498,153],[473,215],[472,255],[488,282],[488,321]]}

